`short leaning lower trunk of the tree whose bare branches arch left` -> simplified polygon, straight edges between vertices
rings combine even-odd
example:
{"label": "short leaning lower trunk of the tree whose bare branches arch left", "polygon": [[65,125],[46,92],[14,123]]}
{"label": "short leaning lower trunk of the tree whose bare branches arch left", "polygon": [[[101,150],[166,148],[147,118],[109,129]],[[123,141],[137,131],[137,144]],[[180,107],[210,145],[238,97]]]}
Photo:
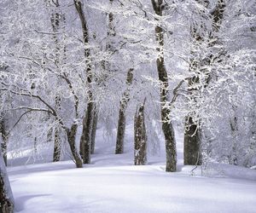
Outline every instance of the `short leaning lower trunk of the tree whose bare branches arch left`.
{"label": "short leaning lower trunk of the tree whose bare branches arch left", "polygon": [[77,168],[83,167],[82,159],[80,158],[79,152],[76,148],[76,134],[78,130],[78,124],[73,124],[70,130],[66,130],[67,132],[67,141],[73,156],[73,160],[77,166]]}

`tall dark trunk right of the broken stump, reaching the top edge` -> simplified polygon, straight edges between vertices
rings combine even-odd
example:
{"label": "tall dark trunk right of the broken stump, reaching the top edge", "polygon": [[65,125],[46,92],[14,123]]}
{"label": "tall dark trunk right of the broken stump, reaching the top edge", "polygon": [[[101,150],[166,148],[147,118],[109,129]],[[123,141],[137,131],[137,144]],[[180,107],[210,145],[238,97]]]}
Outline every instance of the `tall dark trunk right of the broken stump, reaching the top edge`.
{"label": "tall dark trunk right of the broken stump, reaching the top edge", "polygon": [[[162,16],[162,4],[163,0],[151,0],[153,4],[154,13]],[[158,20],[156,18],[156,20]],[[176,151],[176,141],[174,130],[172,127],[172,122],[165,122],[168,118],[170,109],[166,108],[168,103],[168,76],[165,66],[165,58],[163,55],[164,50],[164,31],[161,26],[155,26],[155,36],[158,42],[158,48],[156,49],[159,52],[159,57],[156,60],[157,71],[159,80],[161,83],[160,88],[160,102],[161,102],[161,119],[162,119],[162,130],[165,135],[166,141],[166,171],[176,171],[177,170],[177,151]]]}

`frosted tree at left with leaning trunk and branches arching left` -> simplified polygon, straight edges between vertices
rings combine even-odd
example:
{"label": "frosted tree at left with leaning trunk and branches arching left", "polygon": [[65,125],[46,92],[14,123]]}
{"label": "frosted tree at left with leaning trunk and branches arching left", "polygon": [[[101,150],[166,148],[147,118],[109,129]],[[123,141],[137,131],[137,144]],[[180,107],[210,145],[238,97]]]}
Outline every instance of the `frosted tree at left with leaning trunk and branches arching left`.
{"label": "frosted tree at left with leaning trunk and branches arching left", "polygon": [[[67,136],[73,160],[77,167],[82,167],[81,158],[75,146],[75,137],[80,118],[79,98],[82,98],[78,95],[78,84],[74,81],[74,78],[78,79],[78,76],[75,72],[72,74],[70,72],[72,66],[68,62],[71,60],[72,55],[65,60],[65,63],[62,55],[62,57],[58,58],[58,63],[56,63],[57,50],[51,48],[51,44],[54,43],[55,45],[52,37],[56,32],[49,32],[51,22],[44,21],[40,16],[40,13],[46,11],[44,10],[44,2],[38,3],[35,1],[26,4],[26,7],[34,9],[38,9],[38,5],[41,5],[42,11],[38,13],[30,13],[26,7],[20,5],[22,4],[20,2],[10,3],[14,5],[10,5],[9,8],[16,7],[22,16],[19,16],[17,20],[12,20],[12,10],[6,11],[10,15],[3,16],[3,27],[6,27],[6,34],[2,35],[5,45],[1,53],[3,61],[10,68],[8,72],[1,72],[3,77],[1,78],[1,92],[13,97],[22,97],[20,100],[14,98],[15,101],[12,102],[11,106],[3,105],[3,107],[9,111],[20,111],[18,121],[21,118],[32,118],[33,121],[41,121],[45,126],[49,122],[52,122],[50,127],[61,126]],[[26,25],[23,26],[20,23],[26,23]],[[17,32],[13,32],[13,29],[9,29],[8,26],[15,26]],[[30,31],[30,33],[27,33],[27,31]],[[16,42],[12,43],[11,39]],[[69,42],[69,45],[73,45],[71,40],[66,42]],[[61,45],[61,48],[66,46],[64,42],[58,44]],[[70,49],[68,50],[71,51]],[[61,81],[61,86],[58,88],[54,86],[56,79],[59,82]],[[55,108],[56,96],[65,99],[66,103],[70,101],[69,106],[67,107],[65,103],[61,103],[61,111],[58,111]],[[67,98],[67,96],[70,98]],[[67,112],[67,109],[70,110],[71,115],[74,116],[67,118],[67,115],[62,113],[64,106],[65,111]],[[36,114],[37,116],[35,116]],[[27,115],[30,115],[30,117],[26,117]],[[49,116],[53,119],[49,119]],[[47,122],[45,122],[46,119]],[[49,128],[44,128],[44,130],[49,130]]]}

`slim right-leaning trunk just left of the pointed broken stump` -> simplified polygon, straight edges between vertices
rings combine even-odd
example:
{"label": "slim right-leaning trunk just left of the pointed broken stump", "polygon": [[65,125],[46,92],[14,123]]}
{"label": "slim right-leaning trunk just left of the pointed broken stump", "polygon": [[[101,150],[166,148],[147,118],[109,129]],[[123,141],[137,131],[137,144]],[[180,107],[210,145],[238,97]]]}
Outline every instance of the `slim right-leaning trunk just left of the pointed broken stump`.
{"label": "slim right-leaning trunk just left of the pointed broken stump", "polygon": [[132,80],[133,80],[133,68],[129,69],[129,71],[127,72],[127,78],[126,78],[127,88],[125,89],[125,92],[122,95],[121,100],[120,100],[119,122],[118,122],[116,147],[115,147],[116,154],[124,153],[125,110],[127,108],[128,102],[130,100],[129,87],[131,86]]}

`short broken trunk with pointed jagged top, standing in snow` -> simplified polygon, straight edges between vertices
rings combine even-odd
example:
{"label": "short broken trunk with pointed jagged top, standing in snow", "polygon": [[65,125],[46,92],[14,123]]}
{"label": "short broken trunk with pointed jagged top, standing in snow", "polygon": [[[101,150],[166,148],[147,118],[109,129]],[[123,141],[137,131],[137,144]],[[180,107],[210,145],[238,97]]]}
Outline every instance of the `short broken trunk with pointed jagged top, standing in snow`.
{"label": "short broken trunk with pointed jagged top, standing in snow", "polygon": [[[146,99],[145,99],[146,100]],[[147,164],[147,132],[144,117],[145,101],[134,117],[134,164]]]}

